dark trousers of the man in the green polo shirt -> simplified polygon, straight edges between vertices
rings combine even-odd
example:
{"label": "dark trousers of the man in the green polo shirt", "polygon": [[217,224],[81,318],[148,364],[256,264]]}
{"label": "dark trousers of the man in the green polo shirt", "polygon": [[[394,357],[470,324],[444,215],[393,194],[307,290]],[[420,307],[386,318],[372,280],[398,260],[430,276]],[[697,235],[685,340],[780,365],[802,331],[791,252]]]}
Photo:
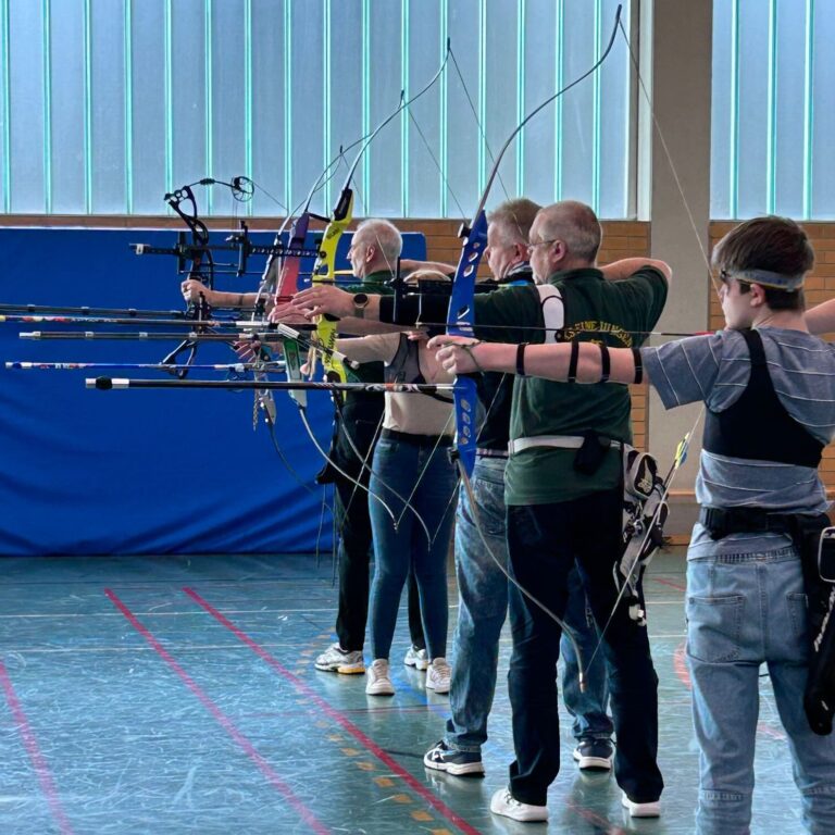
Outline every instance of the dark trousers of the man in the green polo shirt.
{"label": "dark trousers of the man in the green polo shirt", "polygon": [[[576,560],[602,630],[618,597],[612,568],[622,549],[622,506],[623,495],[614,489],[573,501],[508,508],[508,548],[516,581],[563,616]],[[515,587],[510,589],[510,623],[513,652],[508,682],[516,753],[510,789],[516,800],[545,806],[548,786],[560,769],[557,659],[562,631]],[[633,800],[657,800],[663,788],[657,764],[658,676],[647,630],[630,619],[622,603],[602,650],[618,734],[615,778]]]}

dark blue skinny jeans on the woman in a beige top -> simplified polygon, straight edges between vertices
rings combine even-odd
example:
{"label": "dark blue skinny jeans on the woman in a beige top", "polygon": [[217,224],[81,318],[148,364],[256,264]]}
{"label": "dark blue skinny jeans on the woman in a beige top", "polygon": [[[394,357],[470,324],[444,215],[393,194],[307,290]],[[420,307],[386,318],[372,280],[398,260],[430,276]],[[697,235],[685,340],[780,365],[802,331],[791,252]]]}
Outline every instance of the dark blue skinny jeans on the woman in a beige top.
{"label": "dark blue skinny jeans on the woman in a beige top", "polygon": [[[374,448],[374,474],[369,488],[379,496],[400,522],[395,529],[385,508],[369,500],[374,533],[374,579],[371,584],[371,651],[388,658],[397,624],[397,611],[409,566],[414,569],[421,597],[421,616],[429,658],[447,655],[447,552],[452,533],[456,470],[445,446],[420,446],[401,439],[381,438]],[[391,490],[409,499],[433,535],[426,533]],[[416,487],[415,487],[416,485]],[[411,498],[409,498],[411,497]],[[402,514],[402,515],[401,515]]]}

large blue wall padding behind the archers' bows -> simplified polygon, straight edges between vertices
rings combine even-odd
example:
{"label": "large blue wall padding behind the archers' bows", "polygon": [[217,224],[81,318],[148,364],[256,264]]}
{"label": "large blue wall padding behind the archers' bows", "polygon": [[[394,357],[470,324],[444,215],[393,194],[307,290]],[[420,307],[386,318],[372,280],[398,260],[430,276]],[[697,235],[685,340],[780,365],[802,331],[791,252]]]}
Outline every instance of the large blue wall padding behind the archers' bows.
{"label": "large blue wall padding behind the archers' bows", "polygon": [[[0,302],[182,310],[175,260],[138,258],[128,248],[129,242],[172,246],[175,235],[0,229]],[[340,269],[347,267],[349,237],[340,242]],[[272,241],[267,234],[253,238]],[[425,258],[422,235],[403,238],[404,257]],[[310,266],[302,264],[302,270]],[[263,258],[253,258],[252,269],[262,267]],[[257,283],[254,275],[221,276],[216,286],[246,291]],[[0,360],[159,362],[175,345],[18,339],[21,331],[36,329],[154,328],[0,324]],[[235,360],[226,346],[203,345],[196,361]],[[154,371],[0,366],[0,556],[287,553],[316,548],[322,488],[313,487],[311,494],[287,472],[263,421],[253,432],[252,392],[86,389],[84,378],[99,373],[170,378]],[[212,377],[208,372],[190,376]],[[275,399],[282,451],[312,485],[323,459],[287,394],[276,391]],[[327,449],[329,396],[310,392],[308,399],[311,424]],[[319,545],[332,545],[329,514]]]}

